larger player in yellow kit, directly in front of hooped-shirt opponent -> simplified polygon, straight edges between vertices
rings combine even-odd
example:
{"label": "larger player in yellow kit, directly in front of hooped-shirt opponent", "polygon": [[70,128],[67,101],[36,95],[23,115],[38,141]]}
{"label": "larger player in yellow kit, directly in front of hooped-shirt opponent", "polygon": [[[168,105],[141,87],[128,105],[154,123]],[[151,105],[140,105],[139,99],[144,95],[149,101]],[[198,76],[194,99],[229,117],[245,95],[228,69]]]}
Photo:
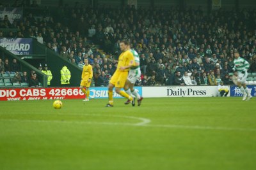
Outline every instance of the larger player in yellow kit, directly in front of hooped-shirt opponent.
{"label": "larger player in yellow kit, directly in front of hooped-shirt opponent", "polygon": [[132,101],[132,97],[126,92],[120,90],[124,88],[125,81],[127,80],[128,72],[130,67],[134,65],[134,57],[132,52],[128,50],[129,42],[126,40],[120,41],[120,50],[122,53],[118,58],[118,65],[115,73],[111,77],[108,85],[108,99],[109,103],[106,107],[113,107],[113,88],[115,87],[115,92],[121,96]]}

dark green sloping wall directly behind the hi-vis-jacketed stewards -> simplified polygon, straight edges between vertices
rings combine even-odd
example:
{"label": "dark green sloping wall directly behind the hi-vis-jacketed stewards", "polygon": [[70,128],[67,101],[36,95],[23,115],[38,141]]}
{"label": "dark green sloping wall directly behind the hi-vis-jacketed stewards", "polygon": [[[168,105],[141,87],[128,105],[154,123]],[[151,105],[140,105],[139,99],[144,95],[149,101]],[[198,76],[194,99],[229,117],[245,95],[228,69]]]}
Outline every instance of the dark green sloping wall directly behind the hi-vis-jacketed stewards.
{"label": "dark green sloping wall directly behind the hi-vis-jacketed stewards", "polygon": [[67,59],[63,59],[58,53],[38,43],[36,40],[33,40],[33,52],[36,54],[41,54],[40,52],[46,53],[46,63],[48,69],[52,72],[51,87],[60,87],[60,70],[63,64],[68,67],[71,73],[70,85],[68,86],[77,87],[80,85],[82,69],[77,65],[71,64]]}

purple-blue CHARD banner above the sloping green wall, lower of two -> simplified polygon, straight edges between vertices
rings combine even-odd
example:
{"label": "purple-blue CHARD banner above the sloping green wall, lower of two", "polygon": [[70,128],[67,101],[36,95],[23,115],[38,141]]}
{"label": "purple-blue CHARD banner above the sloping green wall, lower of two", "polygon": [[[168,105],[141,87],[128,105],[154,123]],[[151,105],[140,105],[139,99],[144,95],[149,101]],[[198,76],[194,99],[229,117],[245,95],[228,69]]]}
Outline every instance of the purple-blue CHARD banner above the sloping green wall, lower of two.
{"label": "purple-blue CHARD banner above the sloping green wall, lower of two", "polygon": [[15,55],[32,54],[32,38],[0,38],[0,45]]}

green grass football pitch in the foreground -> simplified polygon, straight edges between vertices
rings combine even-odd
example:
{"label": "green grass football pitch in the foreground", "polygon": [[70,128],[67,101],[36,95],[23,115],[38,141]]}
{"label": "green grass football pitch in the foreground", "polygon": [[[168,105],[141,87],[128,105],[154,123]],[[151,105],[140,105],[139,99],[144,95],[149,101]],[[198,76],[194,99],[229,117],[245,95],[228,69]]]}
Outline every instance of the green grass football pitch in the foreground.
{"label": "green grass football pitch in the foreground", "polygon": [[1,101],[0,169],[256,169],[255,99],[124,101]]}

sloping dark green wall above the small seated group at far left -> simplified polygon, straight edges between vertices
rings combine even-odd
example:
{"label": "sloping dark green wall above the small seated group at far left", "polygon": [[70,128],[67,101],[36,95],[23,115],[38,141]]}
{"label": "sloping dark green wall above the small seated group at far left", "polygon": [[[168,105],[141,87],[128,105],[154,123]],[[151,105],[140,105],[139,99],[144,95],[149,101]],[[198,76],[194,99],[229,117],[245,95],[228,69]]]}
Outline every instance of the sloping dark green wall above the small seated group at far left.
{"label": "sloping dark green wall above the small seated group at far left", "polygon": [[28,64],[28,62],[20,59],[19,56],[16,56],[13,53],[9,52],[2,46],[0,46],[0,57],[3,59],[3,62],[5,58],[8,58],[10,64],[12,63],[12,59],[16,59],[17,62],[19,62],[20,64],[20,70],[27,71],[28,75],[30,74],[31,70],[34,70],[38,76],[38,79],[42,83],[42,85],[44,87],[47,87],[47,76],[45,74],[43,74],[40,70],[36,69],[36,67],[33,67],[30,64]]}

